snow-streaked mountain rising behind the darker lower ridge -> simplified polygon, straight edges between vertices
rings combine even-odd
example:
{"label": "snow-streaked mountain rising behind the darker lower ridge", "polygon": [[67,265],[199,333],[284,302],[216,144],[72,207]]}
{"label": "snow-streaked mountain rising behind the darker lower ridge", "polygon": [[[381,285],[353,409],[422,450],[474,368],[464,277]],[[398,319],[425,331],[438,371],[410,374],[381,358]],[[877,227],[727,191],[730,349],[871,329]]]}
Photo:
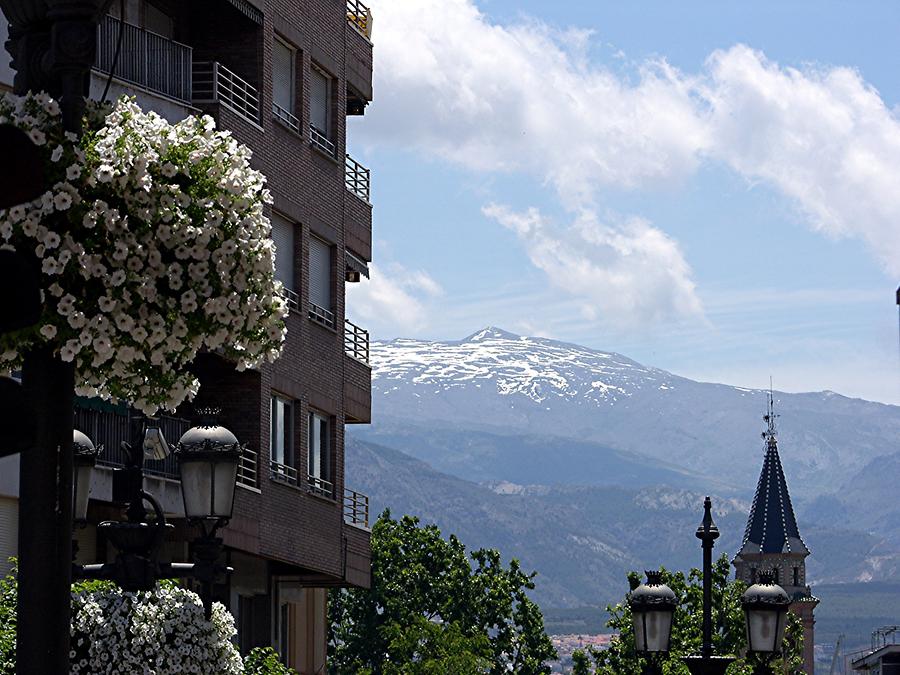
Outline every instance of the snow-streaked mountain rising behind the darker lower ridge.
{"label": "snow-streaked mountain rising behind the darker lower ridge", "polygon": [[[477,482],[646,484],[666,471],[660,482],[746,495],[761,466],[765,391],[620,354],[487,327],[458,341],[376,342],[372,379],[373,426],[360,435]],[[776,408],[801,499],[838,489],[900,439],[896,406],[777,392]]]}

